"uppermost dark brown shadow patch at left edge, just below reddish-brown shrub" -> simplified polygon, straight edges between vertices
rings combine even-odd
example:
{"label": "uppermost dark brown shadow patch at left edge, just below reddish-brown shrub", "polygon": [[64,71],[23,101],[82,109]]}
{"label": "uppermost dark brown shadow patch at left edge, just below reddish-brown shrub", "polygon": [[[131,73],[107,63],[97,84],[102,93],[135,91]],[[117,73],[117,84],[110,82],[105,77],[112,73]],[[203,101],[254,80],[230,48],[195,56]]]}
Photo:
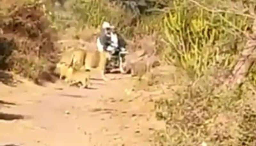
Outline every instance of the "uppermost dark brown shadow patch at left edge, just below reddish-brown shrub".
{"label": "uppermost dark brown shadow patch at left edge, just below reddish-brown shrub", "polygon": [[11,87],[16,87],[17,83],[22,83],[22,81],[14,80],[12,74],[4,71],[0,71],[0,82]]}

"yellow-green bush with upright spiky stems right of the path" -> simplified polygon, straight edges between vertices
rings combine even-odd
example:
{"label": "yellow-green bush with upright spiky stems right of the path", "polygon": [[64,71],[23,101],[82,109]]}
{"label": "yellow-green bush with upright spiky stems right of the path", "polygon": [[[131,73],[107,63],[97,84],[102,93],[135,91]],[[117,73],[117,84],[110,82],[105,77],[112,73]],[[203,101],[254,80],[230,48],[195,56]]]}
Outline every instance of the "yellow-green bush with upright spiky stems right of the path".
{"label": "yellow-green bush with upright spiky stems right of the path", "polygon": [[[206,1],[200,1],[200,3]],[[188,70],[195,77],[210,66],[229,69],[246,42],[244,32],[250,29],[250,18],[227,8],[208,4],[206,9],[191,0],[174,0],[172,9],[164,17],[163,28],[167,49],[166,58]],[[213,9],[223,11],[213,11]]]}

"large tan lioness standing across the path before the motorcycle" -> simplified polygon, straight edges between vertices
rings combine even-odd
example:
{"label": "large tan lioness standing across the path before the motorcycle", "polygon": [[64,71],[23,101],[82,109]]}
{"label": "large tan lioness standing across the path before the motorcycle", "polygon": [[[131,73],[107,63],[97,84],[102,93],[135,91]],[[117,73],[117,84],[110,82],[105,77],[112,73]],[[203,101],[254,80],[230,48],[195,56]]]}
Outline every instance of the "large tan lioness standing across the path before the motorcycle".
{"label": "large tan lioness standing across the path before the motorcycle", "polygon": [[107,59],[110,59],[110,54],[105,51],[74,49],[64,52],[62,53],[60,62],[57,64],[57,67],[61,70],[60,79],[65,76],[67,67],[73,67],[79,70],[84,66],[86,70],[100,70],[102,79],[108,81],[108,78],[105,76]]}

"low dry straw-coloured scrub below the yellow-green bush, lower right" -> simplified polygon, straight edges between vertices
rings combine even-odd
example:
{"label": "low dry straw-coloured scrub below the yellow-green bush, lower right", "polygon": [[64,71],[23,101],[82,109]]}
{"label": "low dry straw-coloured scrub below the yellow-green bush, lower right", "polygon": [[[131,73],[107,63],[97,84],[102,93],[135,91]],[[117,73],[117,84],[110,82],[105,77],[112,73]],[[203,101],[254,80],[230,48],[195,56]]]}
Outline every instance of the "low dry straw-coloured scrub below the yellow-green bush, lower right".
{"label": "low dry straw-coloured scrub below the yellow-green bush, lower right", "polygon": [[[186,73],[185,71],[183,71]],[[256,144],[255,90],[245,82],[227,89],[216,84],[211,74],[196,81],[180,71],[172,73],[172,85],[164,98],[156,101],[157,118],[166,129],[156,132],[157,145],[254,146]],[[179,85],[179,88],[174,85]],[[167,96],[168,95],[168,96]]]}

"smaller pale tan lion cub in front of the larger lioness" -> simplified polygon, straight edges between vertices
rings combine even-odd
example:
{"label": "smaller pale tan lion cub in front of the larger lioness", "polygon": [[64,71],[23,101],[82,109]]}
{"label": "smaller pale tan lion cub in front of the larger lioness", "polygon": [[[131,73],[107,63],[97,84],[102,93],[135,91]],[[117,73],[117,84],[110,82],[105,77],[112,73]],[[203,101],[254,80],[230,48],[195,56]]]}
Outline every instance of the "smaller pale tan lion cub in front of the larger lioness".
{"label": "smaller pale tan lion cub in front of the larger lioness", "polygon": [[84,67],[81,67],[80,70],[69,67],[65,81],[69,86],[81,83],[82,86],[80,86],[80,88],[88,88],[90,84],[90,71],[85,70]]}

